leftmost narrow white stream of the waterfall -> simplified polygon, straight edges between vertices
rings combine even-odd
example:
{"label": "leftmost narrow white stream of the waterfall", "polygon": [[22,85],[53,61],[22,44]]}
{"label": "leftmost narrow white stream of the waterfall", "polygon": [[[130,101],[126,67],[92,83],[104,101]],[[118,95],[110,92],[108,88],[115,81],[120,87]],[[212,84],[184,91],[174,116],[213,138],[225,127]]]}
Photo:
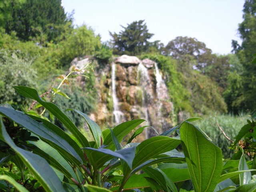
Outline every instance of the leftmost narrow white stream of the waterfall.
{"label": "leftmost narrow white stream of the waterfall", "polygon": [[114,115],[114,123],[116,125],[120,124],[122,121],[122,117],[124,114],[120,111],[118,106],[118,98],[116,96],[116,64],[112,62],[112,99],[113,99],[113,115]]}

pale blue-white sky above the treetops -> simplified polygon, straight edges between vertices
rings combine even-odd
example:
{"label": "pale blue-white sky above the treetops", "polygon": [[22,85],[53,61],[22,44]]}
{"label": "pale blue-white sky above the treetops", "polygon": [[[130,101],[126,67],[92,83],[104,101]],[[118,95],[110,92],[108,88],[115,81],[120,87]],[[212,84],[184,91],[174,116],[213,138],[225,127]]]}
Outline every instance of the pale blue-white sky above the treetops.
{"label": "pale blue-white sky above the treetops", "polygon": [[65,12],[74,10],[74,24],[86,24],[102,42],[110,41],[128,24],[145,20],[150,42],[164,45],[178,36],[196,38],[216,54],[229,54],[243,21],[244,0],[62,0]]}

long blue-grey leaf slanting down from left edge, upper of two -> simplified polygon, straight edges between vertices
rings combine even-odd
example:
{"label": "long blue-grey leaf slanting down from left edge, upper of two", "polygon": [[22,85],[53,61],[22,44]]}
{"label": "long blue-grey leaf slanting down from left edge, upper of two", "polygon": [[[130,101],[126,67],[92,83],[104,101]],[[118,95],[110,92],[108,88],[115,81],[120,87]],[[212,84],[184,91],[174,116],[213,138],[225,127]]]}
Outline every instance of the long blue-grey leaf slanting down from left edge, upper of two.
{"label": "long blue-grey leaf slanting down from left edge, upper of two", "polygon": [[62,156],[67,156],[70,160],[77,165],[82,164],[82,159],[74,150],[74,148],[62,138],[65,135],[64,131],[60,128],[53,132],[50,128],[46,127],[29,116],[20,111],[12,110],[5,107],[0,107],[0,114],[7,116],[14,122],[22,125],[30,132],[39,136],[42,140],[49,143],[52,147],[56,148]]}

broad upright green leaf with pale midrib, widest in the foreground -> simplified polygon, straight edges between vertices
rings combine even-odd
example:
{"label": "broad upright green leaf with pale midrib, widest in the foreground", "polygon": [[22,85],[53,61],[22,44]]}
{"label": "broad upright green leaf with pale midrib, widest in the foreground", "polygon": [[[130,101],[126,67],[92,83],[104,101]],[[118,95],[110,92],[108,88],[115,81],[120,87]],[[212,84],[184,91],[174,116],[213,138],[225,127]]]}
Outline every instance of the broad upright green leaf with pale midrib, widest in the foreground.
{"label": "broad upright green leaf with pale midrib, widest in the foreground", "polygon": [[213,191],[222,172],[220,148],[188,122],[184,122],[180,128],[180,139],[194,190]]}

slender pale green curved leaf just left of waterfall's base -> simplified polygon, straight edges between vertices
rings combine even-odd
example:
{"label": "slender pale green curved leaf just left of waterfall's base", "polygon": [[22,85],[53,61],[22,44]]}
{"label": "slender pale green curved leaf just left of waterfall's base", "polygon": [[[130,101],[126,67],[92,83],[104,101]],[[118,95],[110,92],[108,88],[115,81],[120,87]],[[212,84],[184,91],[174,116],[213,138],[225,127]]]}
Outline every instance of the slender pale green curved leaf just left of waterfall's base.
{"label": "slender pale green curved leaf just left of waterfall's base", "polygon": [[[101,139],[102,138],[102,132],[100,127],[96,124],[96,122],[94,122],[93,120],[91,120],[88,115],[84,114],[83,112],[80,112],[76,109],[67,109],[67,110],[73,110],[75,112],[77,112],[78,114],[82,115],[84,117],[84,119],[86,120],[88,127],[90,129],[90,132],[92,133],[92,136],[95,140],[95,142],[97,143],[97,146],[100,147],[101,146]],[[67,111],[66,110],[66,111]]]}

